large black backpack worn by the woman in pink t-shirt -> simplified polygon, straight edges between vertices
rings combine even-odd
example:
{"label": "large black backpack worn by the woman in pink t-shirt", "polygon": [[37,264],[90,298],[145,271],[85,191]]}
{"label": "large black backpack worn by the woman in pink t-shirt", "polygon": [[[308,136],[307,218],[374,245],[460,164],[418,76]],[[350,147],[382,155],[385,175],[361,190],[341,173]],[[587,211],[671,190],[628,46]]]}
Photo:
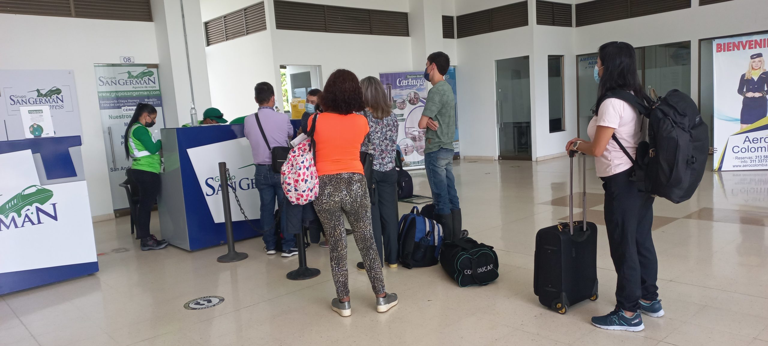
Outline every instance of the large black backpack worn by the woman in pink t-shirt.
{"label": "large black backpack worn by the woman in pink t-shirt", "polygon": [[675,89],[653,101],[616,90],[608,92],[602,101],[607,98],[631,104],[648,119],[648,141],[637,146],[637,157],[632,157],[613,136],[632,161],[634,180],[641,183],[641,190],[672,203],[690,199],[701,183],[711,151],[707,124],[690,96]]}

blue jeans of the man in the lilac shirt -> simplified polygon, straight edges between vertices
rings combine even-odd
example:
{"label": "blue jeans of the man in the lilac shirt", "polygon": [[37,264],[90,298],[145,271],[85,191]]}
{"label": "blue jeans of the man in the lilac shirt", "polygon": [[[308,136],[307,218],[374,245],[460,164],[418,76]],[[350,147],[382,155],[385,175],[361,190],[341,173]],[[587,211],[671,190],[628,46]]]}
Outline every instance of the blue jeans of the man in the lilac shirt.
{"label": "blue jeans of the man in the lilac shirt", "polygon": [[[264,240],[266,249],[275,249],[277,238],[275,236],[275,202],[278,206],[283,206],[285,193],[283,186],[280,185],[280,174],[272,171],[272,166],[256,166],[256,188],[259,189],[260,223],[261,238]],[[285,213],[280,209],[280,226],[285,225]],[[281,227],[283,229],[283,227]],[[296,247],[296,238],[285,236],[283,239],[283,250]]]}

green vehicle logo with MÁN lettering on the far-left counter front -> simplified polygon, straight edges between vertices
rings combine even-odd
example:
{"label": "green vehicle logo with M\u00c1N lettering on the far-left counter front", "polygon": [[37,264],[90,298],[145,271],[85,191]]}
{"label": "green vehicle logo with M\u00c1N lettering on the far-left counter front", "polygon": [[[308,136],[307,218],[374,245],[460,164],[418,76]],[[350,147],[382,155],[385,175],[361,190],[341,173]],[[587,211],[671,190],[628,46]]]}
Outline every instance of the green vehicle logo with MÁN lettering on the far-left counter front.
{"label": "green vehicle logo with M\u00c1N lettering on the far-left counter front", "polygon": [[56,203],[48,203],[53,191],[30,185],[0,205],[0,231],[58,221]]}

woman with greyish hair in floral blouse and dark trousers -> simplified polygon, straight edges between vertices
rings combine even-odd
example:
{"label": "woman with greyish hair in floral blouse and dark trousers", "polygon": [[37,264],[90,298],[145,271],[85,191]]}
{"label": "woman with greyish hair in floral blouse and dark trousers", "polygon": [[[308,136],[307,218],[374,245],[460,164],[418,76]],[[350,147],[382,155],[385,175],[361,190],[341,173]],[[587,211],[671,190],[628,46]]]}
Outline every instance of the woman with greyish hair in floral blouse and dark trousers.
{"label": "woman with greyish hair in floral blouse and dark trousers", "polygon": [[[372,183],[376,193],[371,200],[371,222],[373,239],[379,251],[380,262],[386,262],[389,268],[397,268],[397,130],[399,123],[392,113],[392,104],[386,96],[379,78],[365,77],[360,81],[362,102],[366,108],[358,114],[368,119],[368,140],[362,142],[361,151],[373,155]],[[383,240],[383,242],[382,242]],[[383,243],[383,244],[382,244]],[[383,253],[383,255],[382,255]],[[366,270],[363,262],[357,263],[357,269]]]}

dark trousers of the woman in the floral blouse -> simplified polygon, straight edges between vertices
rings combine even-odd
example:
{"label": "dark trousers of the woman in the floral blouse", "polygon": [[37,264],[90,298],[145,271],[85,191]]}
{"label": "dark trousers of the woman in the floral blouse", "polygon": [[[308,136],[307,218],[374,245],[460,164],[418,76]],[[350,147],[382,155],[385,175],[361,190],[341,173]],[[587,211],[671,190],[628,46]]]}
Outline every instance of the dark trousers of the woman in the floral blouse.
{"label": "dark trousers of the woman in the floral blouse", "polygon": [[[397,170],[386,172],[373,170],[373,183],[376,184],[376,202],[371,203],[371,223],[373,240],[379,250],[382,262],[396,264],[398,261],[397,233]],[[373,201],[372,201],[373,202]]]}

